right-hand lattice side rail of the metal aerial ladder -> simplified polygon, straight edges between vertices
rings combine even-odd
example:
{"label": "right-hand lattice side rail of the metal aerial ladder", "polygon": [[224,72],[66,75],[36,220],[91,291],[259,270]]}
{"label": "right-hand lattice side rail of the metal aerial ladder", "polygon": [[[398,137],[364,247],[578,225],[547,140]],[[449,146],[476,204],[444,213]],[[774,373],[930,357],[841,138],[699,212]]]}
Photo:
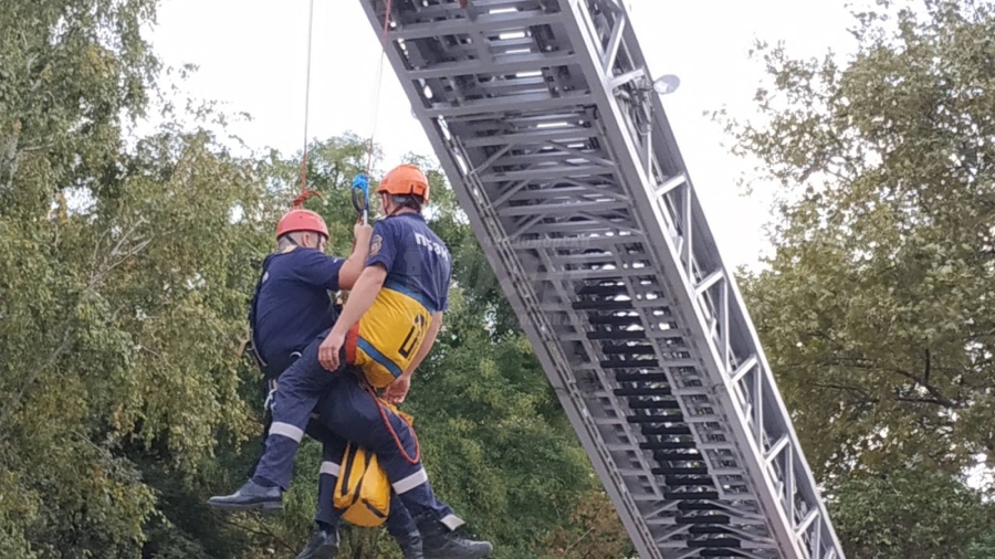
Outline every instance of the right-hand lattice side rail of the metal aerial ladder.
{"label": "right-hand lattice side rail of the metal aerial ladder", "polygon": [[[569,6],[569,9],[572,11],[574,11],[576,21],[578,22],[578,29],[576,29],[576,32],[579,36],[577,39],[583,40],[587,44],[590,54],[590,59],[585,59],[582,56],[580,64],[590,64],[591,61],[603,60],[605,52],[600,49],[601,45],[598,42],[600,34],[591,33],[593,30],[596,30],[594,17],[590,12],[590,7],[595,4],[595,2],[587,0],[563,1]],[[603,9],[607,10],[610,10],[611,8],[605,2],[598,2],[598,4]],[[569,31],[574,32],[575,30],[569,29]],[[587,33],[585,33],[585,31],[587,31]],[[638,49],[638,43],[636,42],[631,29],[627,29],[625,30],[625,32],[629,34],[629,36],[622,39],[622,43],[626,45],[628,54],[631,55],[636,52],[636,49]],[[633,78],[633,76],[646,75],[645,61],[633,60],[633,63],[640,64],[642,65],[642,67],[633,68],[633,71],[631,71],[630,73],[624,74],[624,76],[629,77],[630,81]],[[590,66],[594,66],[594,64],[590,64]],[[604,68],[589,68],[591,73],[599,73],[599,71],[601,70]],[[650,165],[646,165],[646,156],[643,156],[642,154],[647,154],[647,151],[643,151],[642,149],[640,149],[640,146],[638,146],[637,138],[639,136],[638,130],[632,129],[633,120],[630,115],[625,114],[625,112],[620,107],[618,98],[614,93],[615,88],[618,85],[621,85],[619,82],[620,80],[618,78],[603,75],[603,88],[594,92],[595,97],[597,97],[600,102],[599,106],[601,105],[601,103],[604,103],[606,106],[611,107],[612,112],[615,113],[614,119],[606,118],[604,119],[604,122],[608,123],[609,125],[618,125],[619,123],[626,123],[627,125],[626,128],[628,129],[609,128],[608,131],[611,135],[612,146],[616,148],[616,150],[618,150],[621,146],[625,146],[627,148],[627,151],[629,152],[630,158],[628,160],[625,158],[619,158],[620,162],[643,164],[633,166],[635,169],[626,165],[626,168],[624,169],[629,178],[627,182],[630,188],[632,188],[635,184],[639,184],[643,189],[642,193],[649,194],[651,202],[650,204],[648,204],[649,208],[645,207],[643,204],[638,204],[639,208],[643,210],[643,223],[648,224],[652,223],[653,221],[659,224],[667,223],[668,221],[673,222],[673,218],[675,217],[670,215],[671,219],[668,220],[668,217],[663,211],[661,211],[662,208],[659,204],[659,200],[652,199],[653,184],[656,181],[653,180],[654,177],[648,175],[647,171],[652,171],[653,167]],[[624,84],[625,82],[621,83]],[[632,101],[635,102],[635,98]],[[659,99],[654,99],[654,102],[656,106],[653,108],[656,109],[656,114],[663,115],[662,105],[659,103]],[[672,139],[672,134],[667,134],[670,130],[664,130],[660,123],[654,122],[653,128],[660,135],[660,137],[667,138],[668,136],[671,136]],[[647,139],[650,139],[651,137],[652,136],[649,135]],[[664,143],[658,144],[661,146],[664,145]],[[664,152],[661,155],[670,155],[673,160],[680,161],[682,164],[679,151],[677,150],[675,143],[671,143],[667,147],[669,148],[667,150],[669,151],[669,154]],[[653,151],[660,151],[660,148],[653,146]],[[731,381],[730,378],[730,373],[732,372],[732,370],[729,367],[729,351],[720,350],[720,345],[716,344],[716,341],[719,340],[714,339],[714,337],[711,335],[710,325],[708,324],[708,319],[705,318],[706,314],[716,316],[719,315],[719,313],[715,313],[715,309],[713,308],[708,308],[708,306],[702,305],[702,294],[698,293],[695,288],[696,282],[693,277],[696,267],[695,255],[703,256],[706,261],[710,261],[709,264],[712,266],[711,271],[716,273],[718,277],[720,278],[719,283],[722,289],[722,300],[725,303],[725,305],[723,306],[726,307],[724,309],[725,313],[723,318],[727,318],[730,316],[730,302],[727,297],[729,293],[725,292],[725,289],[729,289],[729,286],[734,282],[734,278],[731,277],[730,274],[727,274],[727,272],[724,270],[724,266],[722,265],[721,256],[719,255],[718,249],[714,245],[714,240],[711,239],[710,229],[708,228],[701,207],[695,198],[693,188],[690,182],[690,177],[688,177],[687,173],[687,169],[683,168],[682,165],[680,169],[674,169],[674,171],[683,172],[684,175],[684,184],[682,187],[684,203],[681,204],[685,208],[683,219],[681,220],[683,224],[683,228],[681,228],[683,233],[683,242],[681,243],[681,247],[683,250],[678,250],[678,246],[673,243],[673,240],[670,239],[669,235],[664,235],[664,239],[667,241],[668,247],[670,249],[674,263],[681,263],[682,265],[673,266],[673,263],[671,263],[670,265],[667,265],[668,263],[661,264],[664,265],[664,270],[667,270],[668,272],[668,283],[673,289],[673,293],[679,294],[685,303],[685,306],[683,306],[683,308],[692,308],[698,318],[696,320],[688,323],[695,335],[692,336],[691,339],[706,340],[709,351],[702,352],[705,369],[710,373],[711,380],[716,386],[724,386],[726,389],[726,392],[724,394],[716,393],[716,395],[723,404],[726,416],[733,420],[730,422],[730,424],[737,435],[737,442],[741,445],[745,446],[742,454],[743,458],[746,461],[747,470],[751,473],[751,477],[753,478],[754,484],[758,483],[764,485],[764,487],[762,487],[762,491],[758,491],[757,494],[762,497],[764,508],[767,510],[768,519],[772,520],[772,528],[775,530],[775,534],[777,534],[779,544],[789,549],[789,551],[787,549],[785,549],[785,551],[788,551],[792,557],[808,557],[808,546],[806,546],[802,540],[802,537],[805,536],[805,534],[798,532],[798,525],[800,523],[795,515],[794,493],[795,484],[798,483],[799,477],[797,474],[802,474],[802,482],[807,483],[808,485],[803,492],[804,494],[806,494],[805,497],[808,497],[808,499],[810,499],[811,495],[817,495],[817,488],[815,487],[810,470],[804,462],[804,457],[800,457],[799,460],[800,445],[797,443],[797,437],[792,436],[794,435],[794,430],[790,426],[787,411],[779,398],[779,393],[776,391],[776,386],[774,384],[773,377],[769,375],[769,368],[766,367],[765,362],[762,361],[763,365],[758,366],[761,375],[763,375],[764,378],[761,382],[754,383],[752,386],[754,388],[760,388],[762,392],[760,394],[754,393],[753,401],[757,402],[762,400],[773,400],[774,405],[765,407],[767,409],[767,412],[761,415],[763,421],[760,422],[757,428],[762,432],[766,430],[766,425],[769,425],[774,430],[784,433],[783,436],[785,436],[789,442],[789,444],[786,445],[786,449],[782,449],[782,451],[784,452],[784,460],[786,461],[785,465],[787,466],[784,468],[783,478],[782,476],[776,475],[775,472],[772,472],[771,468],[766,467],[768,458],[775,458],[778,456],[768,456],[765,454],[763,442],[760,441],[758,444],[758,437],[752,432],[753,430],[750,428],[751,418],[747,415],[746,410],[744,410],[742,403],[733,398],[733,394],[735,394],[737,391],[737,387]],[[678,175],[678,172],[671,172],[670,175]],[[633,192],[633,198],[636,196],[638,196],[638,193]],[[651,211],[646,211],[647,209],[650,209]],[[659,229],[662,232],[662,230],[666,228],[660,226]],[[647,233],[649,235],[652,235],[654,232],[651,230],[651,228],[647,228]],[[690,235],[688,233],[690,233]],[[695,233],[698,234],[695,235]],[[698,246],[695,246],[695,244]],[[708,276],[710,275],[710,273],[704,273],[703,275]],[[679,286],[683,288],[675,289],[675,287]],[[742,314],[745,313],[745,309],[742,306],[742,299],[736,297],[736,291],[734,291],[733,294],[734,297],[732,303],[733,308],[735,309],[733,312],[733,315],[740,318],[737,321],[741,323],[741,326],[747,326],[747,331],[750,331],[751,334],[750,338],[752,338],[751,341],[753,341],[753,344],[751,344],[753,347],[748,349],[756,349],[760,347],[760,344],[756,340],[756,334],[755,331],[750,329],[751,325],[748,323],[744,323],[744,320],[741,318]],[[730,341],[732,340],[732,338],[727,335],[726,338]],[[758,360],[763,360],[763,355],[760,351],[756,351],[756,355]],[[783,489],[779,489],[778,485],[782,484]],[[827,521],[828,516],[825,514],[825,507],[820,499],[816,498],[814,503],[808,500],[808,504],[813,508],[820,509],[823,521],[819,523],[819,526],[829,526]],[[829,541],[827,541],[827,544],[829,544]],[[841,552],[837,555],[841,557]],[[821,550],[819,550],[816,556],[823,556]]]}

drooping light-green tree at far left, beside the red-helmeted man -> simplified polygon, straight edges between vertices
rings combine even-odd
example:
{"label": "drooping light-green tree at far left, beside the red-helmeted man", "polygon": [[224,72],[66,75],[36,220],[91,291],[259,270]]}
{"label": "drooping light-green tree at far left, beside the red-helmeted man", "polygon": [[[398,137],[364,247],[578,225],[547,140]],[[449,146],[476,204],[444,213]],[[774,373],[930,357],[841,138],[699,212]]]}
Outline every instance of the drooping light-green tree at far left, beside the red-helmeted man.
{"label": "drooping light-green tree at far left, beside the red-helmeted man", "polygon": [[142,466],[190,491],[219,432],[250,434],[233,356],[261,166],[168,125],[126,145],[156,87],[139,34],[154,8],[0,10],[4,557],[136,557],[167,532],[169,555],[148,557],[176,557]]}

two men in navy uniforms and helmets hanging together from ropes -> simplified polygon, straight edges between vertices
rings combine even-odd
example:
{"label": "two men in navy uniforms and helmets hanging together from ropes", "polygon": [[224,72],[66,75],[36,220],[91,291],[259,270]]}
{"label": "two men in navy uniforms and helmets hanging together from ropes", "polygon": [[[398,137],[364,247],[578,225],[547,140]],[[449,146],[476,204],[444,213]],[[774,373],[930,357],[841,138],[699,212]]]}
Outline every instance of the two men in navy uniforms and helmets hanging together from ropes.
{"label": "two men in navy uniforms and helmets hanging together from ropes", "polygon": [[[322,468],[326,487],[339,481],[342,464],[335,458],[342,457],[347,445],[375,455],[396,500],[404,505],[398,508],[413,515],[420,535],[420,541],[406,539],[406,558],[484,557],[492,546],[460,536],[457,530],[464,523],[432,493],[410,424],[375,393],[383,389],[392,402],[407,395],[411,375],[434,344],[448,309],[452,274],[448,249],[420,212],[429,194],[421,170],[411,165],[397,167],[377,193],[386,218],[370,232],[365,266],[337,319],[327,289],[347,285],[353,266],[315,250],[327,239],[317,214],[294,210],[301,213],[284,218],[284,236],[314,232],[321,242],[314,249],[277,252],[264,263],[251,320],[255,350],[271,370],[283,371],[272,398],[272,423],[251,478],[234,494],[212,497],[209,504],[281,508],[297,446],[312,412],[317,412],[317,422],[327,428],[322,434],[328,450],[327,466]],[[358,226],[357,233],[358,243],[363,240]],[[377,470],[367,472],[375,477]],[[322,500],[321,524],[302,558],[333,557],[338,549],[337,527],[344,510],[323,509],[327,502]]]}

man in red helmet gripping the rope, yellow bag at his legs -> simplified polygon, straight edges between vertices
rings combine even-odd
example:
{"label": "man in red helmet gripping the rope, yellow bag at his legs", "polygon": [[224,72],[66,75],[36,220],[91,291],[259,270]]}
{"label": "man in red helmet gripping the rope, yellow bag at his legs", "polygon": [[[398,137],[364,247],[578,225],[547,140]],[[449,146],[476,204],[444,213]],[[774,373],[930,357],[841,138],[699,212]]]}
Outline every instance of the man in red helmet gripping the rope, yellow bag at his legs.
{"label": "man in red helmet gripping the rope, yellow bag at his legs", "polygon": [[[355,187],[368,188],[366,177],[357,177],[354,181]],[[306,196],[305,192],[304,197]],[[295,207],[300,207],[302,202],[303,199],[298,198],[295,200]],[[264,403],[264,432],[268,432],[272,424],[271,403],[280,375],[301,356],[308,341],[315,339],[322,331],[331,329],[335,323],[337,310],[336,306],[332,305],[328,293],[352,289],[366,266],[370,230],[369,225],[357,223],[354,228],[353,252],[343,261],[323,253],[328,230],[318,214],[294,209],[277,223],[276,252],[263,261],[262,275],[249,312],[252,333],[251,354],[263,372],[268,389]],[[261,292],[264,292],[263,297],[260,297]],[[295,320],[298,316],[304,318]],[[421,536],[408,509],[390,491],[386,477],[377,478],[376,481],[383,483],[375,486],[369,479],[373,476],[363,476],[367,470],[363,466],[379,467],[378,464],[371,463],[376,461],[376,455],[366,454],[363,449],[355,445],[348,446],[347,451],[345,441],[316,419],[308,421],[305,433],[322,443],[323,462],[318,476],[315,515],[317,529],[307,548],[301,553],[301,559],[328,557],[332,552],[333,544],[337,541],[334,511],[336,506],[345,509],[343,517],[346,520],[364,526],[384,524],[386,516],[387,531],[397,540],[406,559],[423,557],[419,555]],[[346,468],[344,476],[339,475],[342,463],[352,466]],[[255,464],[250,470],[250,476],[254,470]],[[366,484],[359,485],[364,481]],[[374,499],[383,502],[377,503],[379,508],[367,508],[366,500],[349,507],[356,497],[367,497],[369,494],[373,494]],[[362,516],[355,518],[357,511],[376,516],[373,519]]]}

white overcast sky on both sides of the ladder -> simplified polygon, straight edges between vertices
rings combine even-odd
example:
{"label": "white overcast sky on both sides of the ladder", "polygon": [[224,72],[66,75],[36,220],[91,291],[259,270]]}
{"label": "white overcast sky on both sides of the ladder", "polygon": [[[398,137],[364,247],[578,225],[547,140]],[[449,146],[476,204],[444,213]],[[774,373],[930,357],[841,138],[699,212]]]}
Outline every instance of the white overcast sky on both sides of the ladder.
{"label": "white overcast sky on both sides of the ladder", "polygon": [[[748,167],[721,145],[723,133],[703,116],[726,106],[752,114],[762,67],[747,60],[754,38],[784,40],[798,55],[850,52],[844,0],[628,0],[653,75],[677,74],[681,87],[663,97],[671,126],[729,266],[754,265],[766,246],[768,201],[741,196]],[[197,97],[226,103],[253,120],[233,131],[250,147],[286,154],[304,143],[308,0],[165,0],[151,39],[164,63],[191,63],[185,84]],[[378,36],[360,0],[316,0],[308,136],[347,130],[368,136]],[[387,165],[407,151],[432,155],[410,103],[385,63],[376,140]]]}

